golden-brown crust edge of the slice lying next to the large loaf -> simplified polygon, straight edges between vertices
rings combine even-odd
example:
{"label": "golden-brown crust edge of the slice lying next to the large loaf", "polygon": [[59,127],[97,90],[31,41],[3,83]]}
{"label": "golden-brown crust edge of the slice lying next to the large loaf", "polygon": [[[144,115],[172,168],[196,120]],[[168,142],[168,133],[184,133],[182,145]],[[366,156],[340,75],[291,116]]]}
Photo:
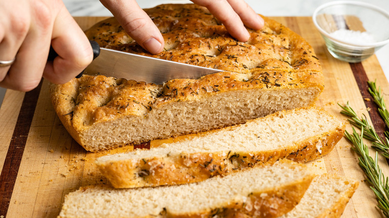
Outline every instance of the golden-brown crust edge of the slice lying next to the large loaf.
{"label": "golden-brown crust edge of the slice lying next to the large loaf", "polygon": [[[323,109],[320,109],[324,112]],[[277,117],[282,112],[267,116]],[[252,122],[250,120],[248,122]],[[236,128],[230,126],[225,130]],[[263,163],[274,163],[280,159],[290,159],[304,163],[319,158],[332,151],[343,137],[345,124],[329,132],[298,141],[285,149],[255,152],[246,150],[181,153],[151,158],[96,161],[104,177],[115,188],[155,187],[161,185],[194,183],[217,175],[227,175],[238,170]]]}

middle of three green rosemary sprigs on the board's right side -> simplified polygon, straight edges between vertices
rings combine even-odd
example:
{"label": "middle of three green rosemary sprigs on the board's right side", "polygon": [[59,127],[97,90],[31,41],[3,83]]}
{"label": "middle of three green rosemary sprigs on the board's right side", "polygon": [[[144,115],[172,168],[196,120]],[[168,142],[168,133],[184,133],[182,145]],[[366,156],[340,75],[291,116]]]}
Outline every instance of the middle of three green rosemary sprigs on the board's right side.
{"label": "middle of three green rosemary sprigs on the board's right side", "polygon": [[350,117],[349,122],[351,124],[357,126],[361,130],[363,129],[363,137],[372,141],[372,147],[380,151],[384,157],[389,158],[389,132],[385,131],[385,139],[382,139],[377,134],[376,130],[374,130],[373,126],[369,124],[365,114],[359,118],[357,113],[349,106],[349,103],[345,106],[339,106],[343,109],[341,113]]}

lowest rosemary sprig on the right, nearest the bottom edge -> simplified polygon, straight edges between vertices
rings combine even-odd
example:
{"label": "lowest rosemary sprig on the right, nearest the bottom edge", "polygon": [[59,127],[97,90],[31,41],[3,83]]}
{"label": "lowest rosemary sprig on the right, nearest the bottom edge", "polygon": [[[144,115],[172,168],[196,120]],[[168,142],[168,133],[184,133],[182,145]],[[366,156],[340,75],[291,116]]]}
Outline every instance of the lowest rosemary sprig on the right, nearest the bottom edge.
{"label": "lowest rosemary sprig on the right, nearest the bottom edge", "polygon": [[389,218],[389,184],[388,177],[384,176],[382,169],[378,165],[378,153],[373,159],[369,156],[368,146],[366,146],[362,140],[364,137],[364,127],[362,126],[361,136],[355,131],[353,127],[353,134],[346,131],[345,136],[349,139],[353,145],[354,150],[360,156],[359,165],[368,177],[369,183],[372,185],[370,188],[374,191],[377,197],[378,208],[382,210],[385,217]]}

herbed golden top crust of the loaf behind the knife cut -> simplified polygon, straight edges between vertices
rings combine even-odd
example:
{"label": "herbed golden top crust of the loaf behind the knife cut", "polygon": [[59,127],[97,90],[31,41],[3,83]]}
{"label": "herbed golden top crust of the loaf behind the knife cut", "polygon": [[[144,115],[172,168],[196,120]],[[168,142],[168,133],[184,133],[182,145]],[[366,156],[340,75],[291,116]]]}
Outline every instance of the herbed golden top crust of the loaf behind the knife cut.
{"label": "herbed golden top crust of the loaf behind the knife cut", "polygon": [[242,43],[233,39],[205,7],[162,4],[145,11],[165,39],[160,54],[146,52],[115,18],[96,23],[85,34],[102,47],[231,72],[252,73],[266,66],[321,71],[312,47],[301,36],[266,17],[265,26],[249,29],[250,39]]}

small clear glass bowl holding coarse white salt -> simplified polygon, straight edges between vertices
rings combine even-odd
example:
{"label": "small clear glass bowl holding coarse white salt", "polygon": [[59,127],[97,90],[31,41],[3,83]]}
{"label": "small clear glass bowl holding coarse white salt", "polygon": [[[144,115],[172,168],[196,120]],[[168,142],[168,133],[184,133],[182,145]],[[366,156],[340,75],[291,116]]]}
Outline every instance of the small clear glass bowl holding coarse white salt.
{"label": "small clear glass bowl holding coarse white salt", "polygon": [[313,22],[328,51],[343,61],[361,62],[389,43],[389,13],[369,3],[325,3],[313,13]]}

